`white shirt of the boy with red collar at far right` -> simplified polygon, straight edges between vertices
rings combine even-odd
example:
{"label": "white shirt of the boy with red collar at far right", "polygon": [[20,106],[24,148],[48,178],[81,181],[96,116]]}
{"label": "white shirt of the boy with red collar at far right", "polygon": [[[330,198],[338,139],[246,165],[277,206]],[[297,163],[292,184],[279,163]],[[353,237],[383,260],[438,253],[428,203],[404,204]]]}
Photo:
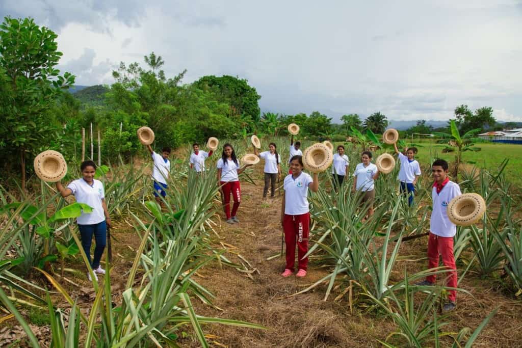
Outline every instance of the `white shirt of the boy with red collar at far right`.
{"label": "white shirt of the boy with red collar at far right", "polygon": [[430,218],[431,233],[441,237],[455,236],[457,226],[449,221],[446,209],[449,202],[461,194],[460,187],[453,181],[448,181],[439,194],[437,194],[437,188],[433,187],[431,191],[433,199],[433,211]]}

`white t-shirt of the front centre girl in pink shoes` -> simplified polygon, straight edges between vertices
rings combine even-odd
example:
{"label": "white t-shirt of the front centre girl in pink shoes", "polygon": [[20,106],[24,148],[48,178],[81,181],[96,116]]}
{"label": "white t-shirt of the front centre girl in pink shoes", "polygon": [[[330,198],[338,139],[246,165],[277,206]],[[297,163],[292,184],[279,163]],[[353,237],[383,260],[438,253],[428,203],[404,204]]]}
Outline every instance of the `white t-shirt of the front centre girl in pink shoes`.
{"label": "white t-shirt of the front centre girl in pink shoes", "polygon": [[313,182],[309,174],[301,172],[295,179],[292,174],[284,178],[284,213],[301,215],[310,211],[308,206],[308,185]]}

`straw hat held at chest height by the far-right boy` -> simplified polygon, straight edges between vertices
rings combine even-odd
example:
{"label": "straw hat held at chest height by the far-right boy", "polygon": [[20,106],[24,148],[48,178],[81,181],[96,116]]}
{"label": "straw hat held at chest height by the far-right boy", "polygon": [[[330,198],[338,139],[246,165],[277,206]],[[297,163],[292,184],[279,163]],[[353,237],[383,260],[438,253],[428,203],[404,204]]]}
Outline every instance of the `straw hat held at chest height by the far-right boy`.
{"label": "straw hat held at chest height by the far-right boy", "polygon": [[452,199],[446,213],[449,221],[459,226],[469,226],[482,219],[486,211],[486,202],[479,194],[464,194]]}

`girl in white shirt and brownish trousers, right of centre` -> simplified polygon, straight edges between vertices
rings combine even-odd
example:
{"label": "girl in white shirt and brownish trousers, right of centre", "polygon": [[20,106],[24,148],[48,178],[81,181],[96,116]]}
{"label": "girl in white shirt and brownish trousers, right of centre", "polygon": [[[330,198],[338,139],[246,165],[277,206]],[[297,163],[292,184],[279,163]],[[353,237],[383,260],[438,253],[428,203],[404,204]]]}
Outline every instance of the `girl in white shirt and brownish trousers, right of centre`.
{"label": "girl in white shirt and brownish trousers, right of centre", "polygon": [[361,161],[355,167],[353,176],[353,190],[361,190],[362,201],[361,203],[368,203],[368,215],[367,218],[371,218],[373,215],[373,200],[375,199],[374,191],[374,180],[379,177],[379,171],[377,166],[372,163],[372,153],[370,151],[363,151],[361,154]]}

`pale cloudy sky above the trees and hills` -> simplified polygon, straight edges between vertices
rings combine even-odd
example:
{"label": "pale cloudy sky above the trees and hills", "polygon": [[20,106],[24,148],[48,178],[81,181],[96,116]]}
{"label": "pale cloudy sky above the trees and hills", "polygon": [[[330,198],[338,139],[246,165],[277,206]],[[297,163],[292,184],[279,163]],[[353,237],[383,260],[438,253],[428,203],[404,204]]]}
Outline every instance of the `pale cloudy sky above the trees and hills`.
{"label": "pale cloudy sky above the trees and hills", "polygon": [[492,106],[522,121],[522,0],[1,0],[58,33],[78,85],[154,51],[172,77],[246,78],[263,111],[389,119]]}

